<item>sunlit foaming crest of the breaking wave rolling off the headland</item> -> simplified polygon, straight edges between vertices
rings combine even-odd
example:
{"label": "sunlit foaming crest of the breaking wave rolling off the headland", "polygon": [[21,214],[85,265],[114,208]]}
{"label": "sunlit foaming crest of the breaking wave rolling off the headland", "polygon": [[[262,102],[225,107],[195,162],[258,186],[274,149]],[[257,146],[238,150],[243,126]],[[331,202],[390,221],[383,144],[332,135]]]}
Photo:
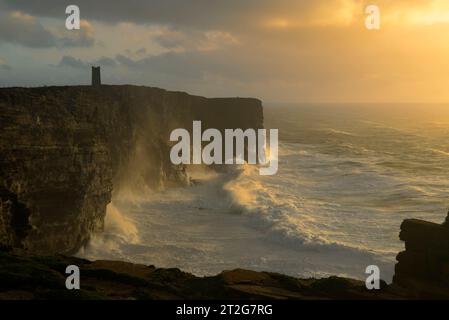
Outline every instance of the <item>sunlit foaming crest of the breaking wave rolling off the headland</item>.
{"label": "sunlit foaming crest of the breaking wave rolling off the headland", "polygon": [[294,181],[270,179],[259,176],[251,166],[242,166],[240,175],[224,185],[234,205],[240,206],[253,226],[262,228],[270,240],[299,250],[373,254],[368,248],[333,240],[331,232],[327,232],[331,231],[332,220],[323,222],[313,215],[316,207],[306,208],[304,199],[292,194]]}

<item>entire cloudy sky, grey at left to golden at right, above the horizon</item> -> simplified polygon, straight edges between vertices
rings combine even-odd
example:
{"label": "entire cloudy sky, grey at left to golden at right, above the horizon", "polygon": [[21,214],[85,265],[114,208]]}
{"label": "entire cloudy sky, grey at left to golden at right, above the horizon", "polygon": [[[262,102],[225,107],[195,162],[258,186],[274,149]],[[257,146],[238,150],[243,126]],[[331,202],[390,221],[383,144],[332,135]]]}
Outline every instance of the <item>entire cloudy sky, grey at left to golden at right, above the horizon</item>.
{"label": "entire cloudy sky, grey at left to golden at right, above the horizon", "polygon": [[209,97],[444,103],[448,40],[448,0],[0,0],[0,86],[89,84],[100,65],[103,83]]}

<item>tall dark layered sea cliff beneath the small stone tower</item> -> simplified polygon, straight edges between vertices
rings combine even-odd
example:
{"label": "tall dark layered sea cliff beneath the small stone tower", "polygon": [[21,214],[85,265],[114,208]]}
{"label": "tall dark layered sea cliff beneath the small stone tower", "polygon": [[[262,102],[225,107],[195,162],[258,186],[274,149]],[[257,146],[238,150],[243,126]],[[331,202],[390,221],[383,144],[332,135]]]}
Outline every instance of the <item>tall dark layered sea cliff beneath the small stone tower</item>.
{"label": "tall dark layered sea cliff beneath the small stone tower", "polygon": [[169,135],[193,120],[262,128],[262,106],[135,86],[0,89],[0,244],[72,253],[124,183],[187,183]]}

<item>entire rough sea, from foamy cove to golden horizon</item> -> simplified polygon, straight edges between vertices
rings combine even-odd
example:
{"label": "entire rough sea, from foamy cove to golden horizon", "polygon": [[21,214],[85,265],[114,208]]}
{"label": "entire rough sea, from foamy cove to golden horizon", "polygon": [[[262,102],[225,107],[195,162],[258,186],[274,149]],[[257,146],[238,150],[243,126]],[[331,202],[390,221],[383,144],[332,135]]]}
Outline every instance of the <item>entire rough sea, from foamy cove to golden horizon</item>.
{"label": "entire rough sea, from foamy cove to golden horizon", "polygon": [[403,219],[446,216],[449,106],[272,104],[264,113],[279,129],[276,175],[194,167],[194,186],[123,193],[79,255],[197,275],[364,279],[375,264],[391,281]]}

